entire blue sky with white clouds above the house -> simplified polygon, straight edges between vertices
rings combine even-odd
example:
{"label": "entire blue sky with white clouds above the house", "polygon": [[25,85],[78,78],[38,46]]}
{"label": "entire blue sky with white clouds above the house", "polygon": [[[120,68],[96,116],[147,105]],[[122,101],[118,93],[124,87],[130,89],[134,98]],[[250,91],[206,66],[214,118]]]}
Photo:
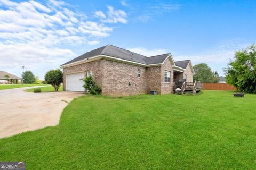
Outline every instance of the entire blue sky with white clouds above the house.
{"label": "entire blue sky with white clouds above the house", "polygon": [[207,63],[223,75],[235,50],[255,43],[256,1],[0,0],[1,70],[47,70],[115,45],[146,56]]}

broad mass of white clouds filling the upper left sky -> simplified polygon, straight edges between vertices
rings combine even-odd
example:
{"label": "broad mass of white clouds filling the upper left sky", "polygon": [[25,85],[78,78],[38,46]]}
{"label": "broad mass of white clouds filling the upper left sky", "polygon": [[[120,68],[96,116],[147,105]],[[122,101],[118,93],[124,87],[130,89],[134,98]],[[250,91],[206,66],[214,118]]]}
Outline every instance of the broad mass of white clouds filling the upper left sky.
{"label": "broad mass of white clouds filling the upper left sky", "polygon": [[[95,22],[63,1],[0,0],[2,69],[9,71],[20,65],[37,69],[47,64],[58,67],[76,56],[71,46],[99,44],[113,31],[105,23],[126,23],[124,11],[108,9],[105,20]],[[104,19],[104,13],[97,14]]]}

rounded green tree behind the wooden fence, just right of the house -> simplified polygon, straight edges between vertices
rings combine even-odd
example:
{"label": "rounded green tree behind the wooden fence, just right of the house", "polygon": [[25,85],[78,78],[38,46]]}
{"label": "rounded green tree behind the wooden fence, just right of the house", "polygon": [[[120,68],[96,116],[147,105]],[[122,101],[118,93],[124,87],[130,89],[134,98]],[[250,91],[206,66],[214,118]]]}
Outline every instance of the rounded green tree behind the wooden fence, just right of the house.
{"label": "rounded green tree behind the wooden fence, just right of the house", "polygon": [[217,71],[213,72],[211,68],[205,63],[194,65],[194,71],[195,74],[193,75],[193,80],[205,83],[219,82],[219,74],[217,73]]}

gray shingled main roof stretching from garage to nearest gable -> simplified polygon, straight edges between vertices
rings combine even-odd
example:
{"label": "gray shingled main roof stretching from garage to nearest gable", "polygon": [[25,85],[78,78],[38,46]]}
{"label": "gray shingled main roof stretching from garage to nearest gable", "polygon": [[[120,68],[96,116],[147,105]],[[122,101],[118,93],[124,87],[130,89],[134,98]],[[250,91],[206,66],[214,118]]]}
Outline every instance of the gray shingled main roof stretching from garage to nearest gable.
{"label": "gray shingled main roof stretching from garage to nearest gable", "polygon": [[141,64],[160,64],[160,63],[163,63],[163,61],[167,56],[169,56],[169,54],[162,54],[162,55],[147,57],[134,52],[130,52],[129,50],[126,50],[123,48],[119,48],[113,45],[107,45],[107,46],[94,49],[81,56],[78,56],[73,60],[70,60],[69,62],[62,64],[61,66],[82,61],[85,58],[94,57],[98,55],[107,55],[107,56],[121,58],[123,60],[133,61]]}

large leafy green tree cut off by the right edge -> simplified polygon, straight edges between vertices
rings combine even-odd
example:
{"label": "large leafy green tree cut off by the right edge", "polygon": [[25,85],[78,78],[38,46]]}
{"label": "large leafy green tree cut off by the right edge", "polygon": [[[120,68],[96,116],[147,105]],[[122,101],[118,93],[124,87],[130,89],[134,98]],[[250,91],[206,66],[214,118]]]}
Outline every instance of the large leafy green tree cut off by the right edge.
{"label": "large leafy green tree cut off by the right edge", "polygon": [[234,60],[224,69],[227,83],[237,90],[256,93],[256,46],[235,52]]}

